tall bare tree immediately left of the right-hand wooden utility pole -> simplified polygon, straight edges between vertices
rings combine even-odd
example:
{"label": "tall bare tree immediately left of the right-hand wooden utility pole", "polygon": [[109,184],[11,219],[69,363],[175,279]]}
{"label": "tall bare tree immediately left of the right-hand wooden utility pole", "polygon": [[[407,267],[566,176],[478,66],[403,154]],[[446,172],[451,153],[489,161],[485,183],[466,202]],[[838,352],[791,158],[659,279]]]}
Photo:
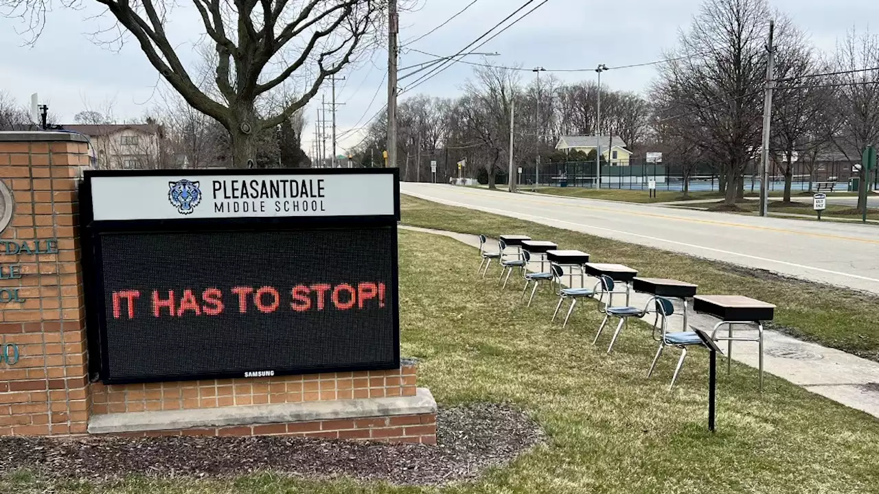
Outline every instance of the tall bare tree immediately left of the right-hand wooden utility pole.
{"label": "tall bare tree immediately left of the right-hand wooden utility pole", "polygon": [[660,117],[720,164],[729,205],[759,152],[770,17],[766,0],[706,0],[653,91]]}

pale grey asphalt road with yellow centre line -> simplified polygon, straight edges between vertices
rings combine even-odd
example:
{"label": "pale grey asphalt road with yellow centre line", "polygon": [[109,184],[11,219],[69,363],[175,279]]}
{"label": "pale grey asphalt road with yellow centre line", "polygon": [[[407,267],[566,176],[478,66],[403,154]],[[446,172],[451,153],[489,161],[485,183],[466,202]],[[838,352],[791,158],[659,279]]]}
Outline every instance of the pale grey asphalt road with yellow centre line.
{"label": "pale grey asphalt road with yellow centre line", "polygon": [[[817,224],[605,200],[500,193],[452,185],[403,183],[400,190],[451,206],[504,214],[879,294],[879,227],[876,226]],[[613,262],[613,259],[601,260]],[[673,277],[673,273],[669,275]]]}

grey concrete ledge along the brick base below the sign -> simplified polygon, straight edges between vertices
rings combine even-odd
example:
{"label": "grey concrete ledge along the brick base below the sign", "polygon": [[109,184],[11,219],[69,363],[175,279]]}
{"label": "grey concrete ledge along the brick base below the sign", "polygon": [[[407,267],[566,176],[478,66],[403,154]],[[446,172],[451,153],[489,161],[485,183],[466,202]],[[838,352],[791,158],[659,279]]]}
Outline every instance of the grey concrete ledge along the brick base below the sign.
{"label": "grey concrete ledge along the brick base below the sign", "polygon": [[415,396],[109,413],[93,416],[89,420],[88,432],[90,434],[108,434],[228,425],[286,424],[345,418],[421,415],[436,413],[436,411],[437,403],[430,390],[418,388]]}

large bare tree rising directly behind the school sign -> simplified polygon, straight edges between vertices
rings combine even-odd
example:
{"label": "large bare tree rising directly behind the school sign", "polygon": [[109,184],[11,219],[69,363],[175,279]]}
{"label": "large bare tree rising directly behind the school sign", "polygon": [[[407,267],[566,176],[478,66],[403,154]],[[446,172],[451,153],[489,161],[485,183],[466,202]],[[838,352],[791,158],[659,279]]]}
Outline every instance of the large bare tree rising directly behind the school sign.
{"label": "large bare tree rising directly behind the school sign", "polygon": [[[90,0],[70,0],[76,7]],[[369,47],[387,10],[387,0],[193,0],[201,32],[214,48],[216,93],[193,80],[165,25],[171,0],[91,0],[105,7],[117,27],[134,36],[147,59],[189,105],[229,130],[232,163],[256,159],[261,131],[272,131],[306,105],[323,81]],[[8,15],[30,23],[39,36],[49,0],[0,0]],[[117,40],[123,37],[118,36]],[[261,100],[283,91],[291,77],[303,81],[299,98],[280,111],[260,114]]]}

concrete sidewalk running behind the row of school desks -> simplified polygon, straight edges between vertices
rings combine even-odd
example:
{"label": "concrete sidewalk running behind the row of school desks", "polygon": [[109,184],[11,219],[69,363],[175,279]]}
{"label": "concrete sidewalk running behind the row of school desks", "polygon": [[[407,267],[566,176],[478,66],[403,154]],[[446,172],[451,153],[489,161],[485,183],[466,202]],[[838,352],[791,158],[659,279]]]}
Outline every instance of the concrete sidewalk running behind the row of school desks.
{"label": "concrete sidewalk running behind the row of school desks", "polygon": [[[404,225],[401,225],[400,228],[448,236],[471,247],[479,247],[479,237],[475,235]],[[497,243],[496,240],[489,242],[490,245]],[[476,256],[474,256],[474,261],[476,261]],[[536,264],[539,265],[539,263]],[[535,271],[532,267],[529,267],[529,270]],[[574,276],[574,283],[575,286],[578,286],[578,276]],[[595,280],[587,277],[586,285],[591,286],[590,283],[594,284]],[[518,284],[518,286],[520,289],[521,285]],[[650,295],[632,292],[632,306],[643,308],[648,300],[650,300]],[[588,305],[584,305],[579,309],[583,310],[588,307]],[[688,323],[691,327],[708,332],[712,331],[718,321],[713,317],[694,313],[692,303],[688,317]],[[653,323],[652,316],[645,317],[645,320],[648,323]],[[676,317],[670,322],[673,324],[679,321],[680,318]],[[595,330],[597,329],[595,328]],[[605,332],[612,334],[614,327],[609,330],[607,331],[606,328]],[[726,330],[723,328],[721,331]],[[737,329],[735,332],[737,336],[753,338],[757,336],[756,329],[752,331]],[[781,379],[793,382],[813,393],[879,418],[879,363],[825,346],[800,341],[778,331],[764,331],[763,339],[764,372],[766,374],[781,377]],[[604,338],[602,341],[607,345],[609,339]],[[726,345],[727,342],[720,342],[724,352],[726,352]],[[733,342],[732,359],[757,368],[757,343]],[[720,363],[718,366],[723,367]],[[683,372],[686,372],[686,368]],[[663,376],[663,379],[665,380],[666,377]],[[667,381],[665,384],[667,385]]]}

